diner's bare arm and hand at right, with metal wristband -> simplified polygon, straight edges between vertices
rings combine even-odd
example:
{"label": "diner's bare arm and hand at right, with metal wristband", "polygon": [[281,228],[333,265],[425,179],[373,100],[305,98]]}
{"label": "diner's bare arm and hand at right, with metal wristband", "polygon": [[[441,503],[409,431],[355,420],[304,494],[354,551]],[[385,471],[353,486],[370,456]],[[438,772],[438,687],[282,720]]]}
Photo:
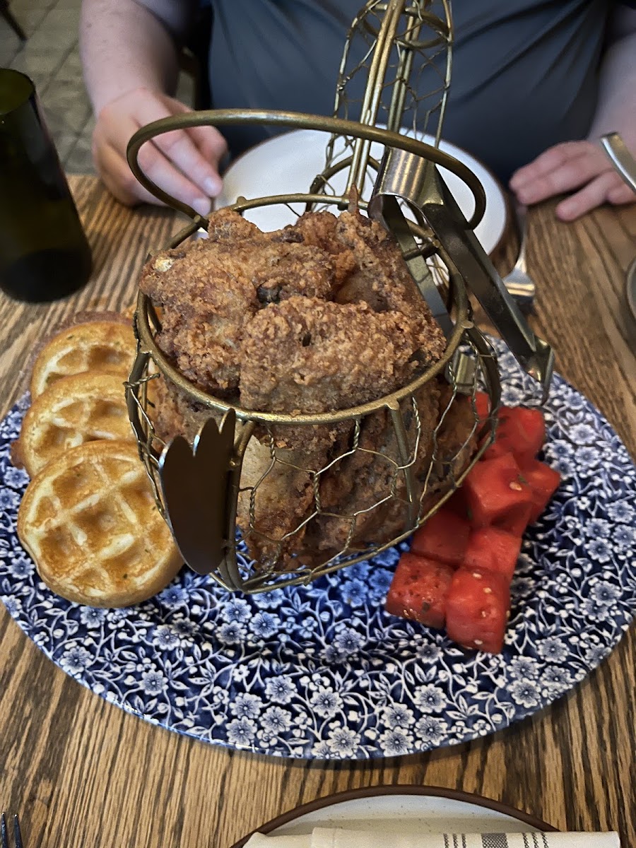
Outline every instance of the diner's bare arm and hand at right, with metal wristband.
{"label": "diner's bare arm and hand at right, with metal wristband", "polygon": [[510,180],[524,204],[573,192],[556,207],[561,220],[574,220],[600,204],[628,204],[636,195],[616,173],[599,138],[619,132],[636,154],[636,9],[618,5],[600,67],[599,99],[589,137],[546,150]]}

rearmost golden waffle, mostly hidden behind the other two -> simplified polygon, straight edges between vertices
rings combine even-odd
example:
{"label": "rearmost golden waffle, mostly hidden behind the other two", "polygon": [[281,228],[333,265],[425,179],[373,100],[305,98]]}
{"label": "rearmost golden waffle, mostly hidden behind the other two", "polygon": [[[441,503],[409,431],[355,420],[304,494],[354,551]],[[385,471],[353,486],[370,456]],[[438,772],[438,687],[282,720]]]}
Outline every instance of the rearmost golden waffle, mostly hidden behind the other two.
{"label": "rearmost golden waffle, mostly hidden behind the other two", "polygon": [[120,374],[127,379],[135,358],[135,335],[124,321],[87,321],[59,332],[37,355],[31,397],[61,377],[82,371]]}

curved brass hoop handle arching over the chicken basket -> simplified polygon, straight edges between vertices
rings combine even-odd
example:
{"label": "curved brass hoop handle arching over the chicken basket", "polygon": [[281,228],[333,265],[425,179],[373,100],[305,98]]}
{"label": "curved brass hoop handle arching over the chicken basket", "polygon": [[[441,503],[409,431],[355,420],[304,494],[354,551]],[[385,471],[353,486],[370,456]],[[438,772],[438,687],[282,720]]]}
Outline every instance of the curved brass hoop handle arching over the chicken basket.
{"label": "curved brass hoop handle arching over the chicken basket", "polygon": [[[319,130],[330,133],[332,136],[339,135],[362,138],[369,142],[379,142],[386,148],[399,148],[407,153],[413,153],[421,157],[421,159],[432,162],[433,165],[446,168],[466,183],[475,203],[475,209],[471,219],[468,221],[468,226],[471,229],[474,229],[483,218],[486,210],[486,192],[484,192],[483,186],[477,179],[477,176],[463,162],[450,156],[449,153],[444,153],[443,150],[432,147],[432,145],[421,142],[416,138],[403,136],[398,132],[384,130],[377,126],[363,125],[358,121],[344,120],[343,118],[330,118],[322,115],[304,114],[303,112],[285,112],[277,109],[208,109],[201,112],[171,115],[169,118],[155,120],[152,124],[142,126],[140,130],[137,130],[135,135],[131,137],[130,142],[128,142],[128,164],[131,167],[132,173],[148,192],[173,209],[178,209],[185,213],[185,215],[188,215],[196,223],[200,222],[200,225],[203,226],[207,218],[198,215],[198,212],[195,212],[191,206],[165,192],[143,172],[138,161],[139,149],[145,142],[149,142],[154,137],[163,135],[165,132],[186,130],[193,126],[245,124]],[[286,200],[288,197],[297,198],[295,195],[278,195],[271,198],[263,198],[263,200],[269,203],[286,203],[288,202]],[[325,196],[321,196],[320,198],[321,202],[325,202],[327,199],[330,199],[332,203],[334,202],[334,198],[326,198]],[[347,204],[348,198],[341,196],[335,198],[335,202]]]}

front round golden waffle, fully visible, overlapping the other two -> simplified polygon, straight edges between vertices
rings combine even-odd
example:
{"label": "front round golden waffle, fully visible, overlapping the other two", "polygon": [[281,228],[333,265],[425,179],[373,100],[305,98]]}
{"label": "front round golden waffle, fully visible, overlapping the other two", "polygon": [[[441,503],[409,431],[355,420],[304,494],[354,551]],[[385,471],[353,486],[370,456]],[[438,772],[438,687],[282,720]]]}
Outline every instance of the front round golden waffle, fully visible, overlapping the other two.
{"label": "front round golden waffle, fully visible, overlapping the other two", "polygon": [[137,604],[181,567],[126,442],[88,442],[49,462],[26,489],[18,536],[49,589],[78,604]]}

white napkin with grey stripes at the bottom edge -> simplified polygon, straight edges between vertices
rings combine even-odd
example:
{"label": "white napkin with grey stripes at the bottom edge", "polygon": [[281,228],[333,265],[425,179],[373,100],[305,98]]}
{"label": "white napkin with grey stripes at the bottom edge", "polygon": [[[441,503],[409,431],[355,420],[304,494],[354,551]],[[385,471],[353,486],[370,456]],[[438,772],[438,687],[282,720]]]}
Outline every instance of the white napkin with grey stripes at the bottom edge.
{"label": "white napkin with grey stripes at the bottom edge", "polygon": [[621,848],[618,834],[421,834],[314,828],[311,835],[254,834],[245,848]]}

